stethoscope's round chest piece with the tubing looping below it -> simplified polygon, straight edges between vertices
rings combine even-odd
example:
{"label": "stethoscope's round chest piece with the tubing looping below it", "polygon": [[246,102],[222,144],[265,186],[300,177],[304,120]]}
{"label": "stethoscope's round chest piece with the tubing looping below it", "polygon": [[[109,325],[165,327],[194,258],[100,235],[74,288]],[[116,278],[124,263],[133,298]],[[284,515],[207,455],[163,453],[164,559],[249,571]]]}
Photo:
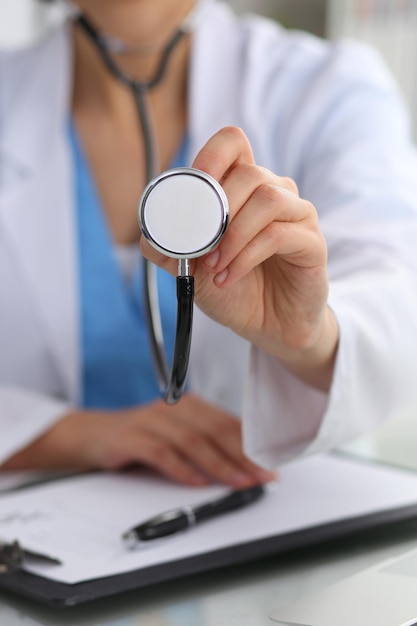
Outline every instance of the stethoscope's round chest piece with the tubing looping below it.
{"label": "stethoscope's round chest piece with the tubing looping below it", "polygon": [[180,167],[152,180],[139,203],[139,226],[150,245],[178,259],[177,326],[171,372],[159,312],[156,274],[146,262],[146,309],[156,371],[165,400],[177,402],[183,392],[191,347],[194,277],[189,259],[207,254],[220,242],[229,220],[229,205],[219,183],[197,169]]}

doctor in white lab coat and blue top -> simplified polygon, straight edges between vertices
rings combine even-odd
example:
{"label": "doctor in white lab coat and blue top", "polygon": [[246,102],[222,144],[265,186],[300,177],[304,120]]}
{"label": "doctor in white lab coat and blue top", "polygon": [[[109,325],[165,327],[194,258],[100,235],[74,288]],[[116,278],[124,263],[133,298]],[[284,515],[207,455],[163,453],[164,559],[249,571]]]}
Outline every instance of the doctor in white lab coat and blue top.
{"label": "doctor in white lab coat and blue top", "polygon": [[[146,82],[194,2],[77,5]],[[169,407],[142,312],[132,94],[76,23],[1,53],[3,469],[144,463],[247,486],[417,400],[417,160],[398,90],[367,49],[223,2],[198,17],[148,103],[161,169],[211,174],[231,221],[193,263],[189,384]],[[168,270],[169,334],[176,262],[140,250]]]}

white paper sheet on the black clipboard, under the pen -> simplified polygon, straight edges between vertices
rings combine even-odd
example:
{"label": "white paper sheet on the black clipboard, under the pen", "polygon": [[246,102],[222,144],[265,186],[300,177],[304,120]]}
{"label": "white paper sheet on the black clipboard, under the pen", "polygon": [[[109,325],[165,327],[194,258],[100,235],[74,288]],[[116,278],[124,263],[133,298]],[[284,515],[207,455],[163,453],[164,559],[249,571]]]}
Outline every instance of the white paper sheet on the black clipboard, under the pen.
{"label": "white paper sheet on the black clipboard, under the pen", "polygon": [[121,534],[178,506],[210,501],[224,487],[192,488],[151,474],[99,473],[0,497],[0,538],[18,539],[62,565],[28,571],[76,583],[141,569],[320,524],[417,504],[417,474],[320,456],[282,468],[264,498],[177,536],[130,551]]}

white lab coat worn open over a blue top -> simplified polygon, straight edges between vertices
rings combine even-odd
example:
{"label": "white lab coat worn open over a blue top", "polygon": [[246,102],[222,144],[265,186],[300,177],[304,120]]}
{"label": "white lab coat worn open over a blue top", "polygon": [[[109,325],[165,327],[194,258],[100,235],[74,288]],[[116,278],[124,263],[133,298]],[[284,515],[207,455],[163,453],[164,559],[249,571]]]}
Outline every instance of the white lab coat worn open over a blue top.
{"label": "white lab coat worn open over a blue top", "polygon": [[[76,405],[80,345],[65,26],[0,53],[0,459]],[[244,421],[274,466],[329,448],[417,400],[417,161],[377,56],[207,8],[190,68],[190,161],[239,125],[257,162],[316,206],[340,325],[323,394],[196,312],[191,389]]]}

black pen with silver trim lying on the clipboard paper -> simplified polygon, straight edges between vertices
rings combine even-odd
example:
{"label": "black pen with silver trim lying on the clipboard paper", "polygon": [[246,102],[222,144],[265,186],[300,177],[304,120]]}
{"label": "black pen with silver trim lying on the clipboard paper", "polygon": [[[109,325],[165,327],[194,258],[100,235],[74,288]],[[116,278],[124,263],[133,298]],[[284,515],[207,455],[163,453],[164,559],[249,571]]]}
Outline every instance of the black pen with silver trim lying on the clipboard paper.
{"label": "black pen with silver trim lying on the clipboard paper", "polygon": [[265,485],[256,485],[249,489],[232,491],[211,502],[166,511],[126,531],[122,539],[129,548],[135,548],[142,542],[174,535],[212,517],[256,502],[265,493],[265,489]]}

